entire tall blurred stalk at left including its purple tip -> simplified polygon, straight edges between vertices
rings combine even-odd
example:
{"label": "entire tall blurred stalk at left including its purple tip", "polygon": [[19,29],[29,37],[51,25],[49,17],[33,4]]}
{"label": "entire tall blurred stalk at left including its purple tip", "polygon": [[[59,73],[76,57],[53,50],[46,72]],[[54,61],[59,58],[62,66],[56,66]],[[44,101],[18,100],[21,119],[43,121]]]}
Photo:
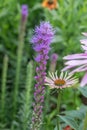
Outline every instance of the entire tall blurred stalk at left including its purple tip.
{"label": "entire tall blurred stalk at left including its purple tip", "polygon": [[20,80],[20,71],[21,71],[21,62],[22,62],[22,56],[23,56],[24,35],[25,35],[27,17],[28,17],[28,7],[27,5],[22,5],[19,44],[18,44],[18,50],[17,50],[16,76],[15,76],[15,85],[14,85],[14,91],[13,91],[14,92],[13,94],[13,118],[17,110],[18,89],[19,89],[19,80]]}

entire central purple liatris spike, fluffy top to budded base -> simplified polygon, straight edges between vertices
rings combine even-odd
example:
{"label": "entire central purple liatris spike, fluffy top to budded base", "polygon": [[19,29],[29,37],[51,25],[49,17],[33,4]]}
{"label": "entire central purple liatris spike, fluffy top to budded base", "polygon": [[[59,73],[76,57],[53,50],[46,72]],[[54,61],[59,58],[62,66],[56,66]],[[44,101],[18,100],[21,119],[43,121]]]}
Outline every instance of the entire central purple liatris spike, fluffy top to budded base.
{"label": "entire central purple liatris spike, fluffy top to budded base", "polygon": [[37,52],[35,61],[38,66],[36,67],[36,85],[34,92],[34,104],[33,104],[33,117],[32,117],[32,129],[37,130],[41,124],[42,109],[44,102],[44,83],[46,76],[46,64],[48,60],[48,52],[50,50],[50,44],[54,36],[54,30],[49,22],[41,22],[40,26],[35,29],[35,35],[32,38],[33,48]]}

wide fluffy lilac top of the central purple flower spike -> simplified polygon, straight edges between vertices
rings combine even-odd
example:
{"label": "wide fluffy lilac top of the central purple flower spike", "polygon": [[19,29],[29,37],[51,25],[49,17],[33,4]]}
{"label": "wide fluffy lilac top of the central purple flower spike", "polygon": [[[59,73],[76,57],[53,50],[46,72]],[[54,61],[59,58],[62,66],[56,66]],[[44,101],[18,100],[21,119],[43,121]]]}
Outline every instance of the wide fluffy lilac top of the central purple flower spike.
{"label": "wide fluffy lilac top of the central purple flower spike", "polygon": [[41,22],[40,26],[36,27],[35,35],[32,38],[32,43],[35,48],[46,48],[52,42],[54,30],[49,22]]}

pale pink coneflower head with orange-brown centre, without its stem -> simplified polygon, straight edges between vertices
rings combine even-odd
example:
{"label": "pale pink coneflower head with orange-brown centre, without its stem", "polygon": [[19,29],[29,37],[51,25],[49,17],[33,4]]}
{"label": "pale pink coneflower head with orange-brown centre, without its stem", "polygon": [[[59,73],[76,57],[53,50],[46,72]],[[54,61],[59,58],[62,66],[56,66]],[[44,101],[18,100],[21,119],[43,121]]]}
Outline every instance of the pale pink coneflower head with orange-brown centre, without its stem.
{"label": "pale pink coneflower head with orange-brown centre, without its stem", "polygon": [[78,80],[73,77],[72,74],[68,74],[67,72],[65,74],[61,72],[60,76],[58,77],[56,71],[55,73],[49,73],[49,77],[46,77],[45,82],[45,84],[48,85],[50,89],[63,89],[75,85]]}

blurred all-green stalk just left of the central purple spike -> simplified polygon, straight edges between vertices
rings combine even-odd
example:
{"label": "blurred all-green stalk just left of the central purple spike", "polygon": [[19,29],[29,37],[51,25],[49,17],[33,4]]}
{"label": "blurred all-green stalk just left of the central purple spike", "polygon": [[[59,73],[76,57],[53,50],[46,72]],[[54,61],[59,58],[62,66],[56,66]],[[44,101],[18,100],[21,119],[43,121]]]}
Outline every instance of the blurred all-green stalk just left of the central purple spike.
{"label": "blurred all-green stalk just left of the central purple spike", "polygon": [[25,89],[25,102],[24,102],[24,117],[23,117],[23,130],[27,130],[29,123],[30,107],[31,107],[31,87],[33,79],[33,64],[30,62],[27,66],[26,89]]}

